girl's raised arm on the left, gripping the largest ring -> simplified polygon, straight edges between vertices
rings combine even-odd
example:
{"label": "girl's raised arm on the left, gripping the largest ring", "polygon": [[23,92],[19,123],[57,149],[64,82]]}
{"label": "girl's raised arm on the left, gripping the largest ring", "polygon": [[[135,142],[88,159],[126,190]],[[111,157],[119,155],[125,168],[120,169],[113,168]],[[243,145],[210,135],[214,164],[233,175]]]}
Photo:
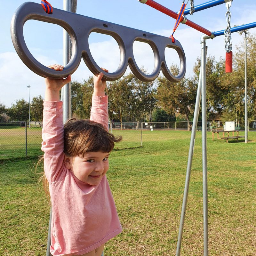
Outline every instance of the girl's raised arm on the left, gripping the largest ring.
{"label": "girl's raised arm on the left, gripping the largest ring", "polygon": [[[49,68],[62,70],[63,66],[51,65]],[[63,109],[60,89],[71,81],[66,79],[45,79],[44,118],[42,129],[42,150],[44,151],[44,171],[49,183],[61,178],[64,158]]]}

